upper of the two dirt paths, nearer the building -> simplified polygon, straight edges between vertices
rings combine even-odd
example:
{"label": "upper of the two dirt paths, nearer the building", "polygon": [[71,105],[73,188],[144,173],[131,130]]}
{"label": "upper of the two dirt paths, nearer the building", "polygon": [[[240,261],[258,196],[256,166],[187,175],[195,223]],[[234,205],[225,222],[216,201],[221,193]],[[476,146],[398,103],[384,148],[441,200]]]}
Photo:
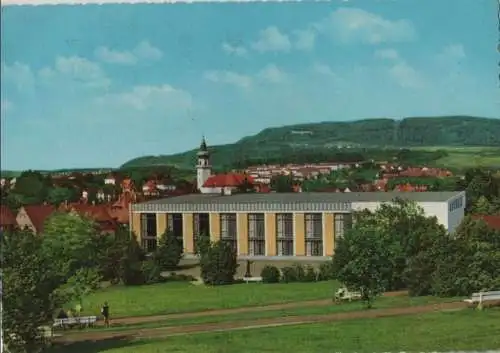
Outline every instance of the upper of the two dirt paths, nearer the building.
{"label": "upper of the two dirt paths, nearer the building", "polygon": [[[407,295],[406,291],[400,292],[387,292],[384,293],[384,297],[396,297]],[[285,309],[295,309],[304,307],[314,307],[314,306],[324,306],[332,303],[331,299],[320,299],[320,300],[307,300],[302,302],[291,302],[291,303],[278,303],[278,304],[268,304],[261,306],[248,306],[242,308],[234,309],[217,309],[217,310],[206,310],[206,311],[195,311],[192,313],[178,313],[178,314],[166,314],[166,315],[154,315],[154,316],[132,316],[132,317],[122,317],[111,319],[111,325],[136,325],[144,324],[149,322],[167,321],[173,319],[190,319],[196,317],[206,317],[206,316],[221,316],[221,315],[232,315],[232,314],[242,314],[249,312],[261,312],[261,311],[273,311],[273,310],[285,310]],[[97,325],[103,325],[103,322],[97,322]]]}

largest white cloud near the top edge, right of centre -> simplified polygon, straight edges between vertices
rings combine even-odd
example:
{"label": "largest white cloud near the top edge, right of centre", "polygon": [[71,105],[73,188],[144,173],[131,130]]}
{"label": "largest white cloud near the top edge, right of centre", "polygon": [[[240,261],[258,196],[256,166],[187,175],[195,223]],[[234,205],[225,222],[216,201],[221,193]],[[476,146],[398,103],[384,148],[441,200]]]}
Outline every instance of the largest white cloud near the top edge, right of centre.
{"label": "largest white cloud near the top edge, right of centre", "polygon": [[389,20],[355,8],[339,8],[315,27],[345,44],[403,42],[417,36],[413,24],[408,20]]}

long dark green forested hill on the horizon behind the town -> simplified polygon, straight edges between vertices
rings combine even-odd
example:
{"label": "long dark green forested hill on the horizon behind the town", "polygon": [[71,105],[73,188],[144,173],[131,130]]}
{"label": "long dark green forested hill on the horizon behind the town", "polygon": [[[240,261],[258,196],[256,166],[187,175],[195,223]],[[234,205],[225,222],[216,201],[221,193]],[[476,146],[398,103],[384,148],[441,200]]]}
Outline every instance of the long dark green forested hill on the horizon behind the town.
{"label": "long dark green forested hill on the horizon behind the town", "polygon": [[[210,149],[215,166],[229,166],[248,158],[275,159],[290,151],[335,155],[360,149],[421,146],[500,146],[500,119],[448,116],[287,125]],[[175,165],[191,169],[195,153],[196,149],[169,156],[144,156],[123,167]]]}

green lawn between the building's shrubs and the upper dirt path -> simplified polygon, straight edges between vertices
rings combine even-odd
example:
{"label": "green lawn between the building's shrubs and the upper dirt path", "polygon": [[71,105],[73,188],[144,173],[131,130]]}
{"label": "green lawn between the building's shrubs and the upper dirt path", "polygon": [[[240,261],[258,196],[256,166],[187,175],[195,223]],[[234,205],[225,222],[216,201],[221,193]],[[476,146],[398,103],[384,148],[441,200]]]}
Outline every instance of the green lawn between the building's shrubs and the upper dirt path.
{"label": "green lawn between the building's shrubs and the upper dirt path", "polygon": [[82,315],[97,315],[107,301],[112,317],[161,315],[331,298],[336,282],[234,284],[206,287],[185,282],[113,286],[83,300]]}

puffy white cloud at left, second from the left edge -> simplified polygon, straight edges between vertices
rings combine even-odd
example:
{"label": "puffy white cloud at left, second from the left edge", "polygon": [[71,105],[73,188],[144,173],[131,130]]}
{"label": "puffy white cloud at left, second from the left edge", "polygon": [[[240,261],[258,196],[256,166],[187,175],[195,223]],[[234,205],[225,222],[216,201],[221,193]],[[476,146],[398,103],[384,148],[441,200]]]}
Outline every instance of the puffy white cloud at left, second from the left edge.
{"label": "puffy white cloud at left, second from the left edge", "polygon": [[[38,77],[46,84],[60,85],[61,81],[80,83],[90,88],[106,88],[111,80],[99,64],[78,56],[58,57],[54,67],[43,68]],[[61,86],[63,87],[63,86]]]}

